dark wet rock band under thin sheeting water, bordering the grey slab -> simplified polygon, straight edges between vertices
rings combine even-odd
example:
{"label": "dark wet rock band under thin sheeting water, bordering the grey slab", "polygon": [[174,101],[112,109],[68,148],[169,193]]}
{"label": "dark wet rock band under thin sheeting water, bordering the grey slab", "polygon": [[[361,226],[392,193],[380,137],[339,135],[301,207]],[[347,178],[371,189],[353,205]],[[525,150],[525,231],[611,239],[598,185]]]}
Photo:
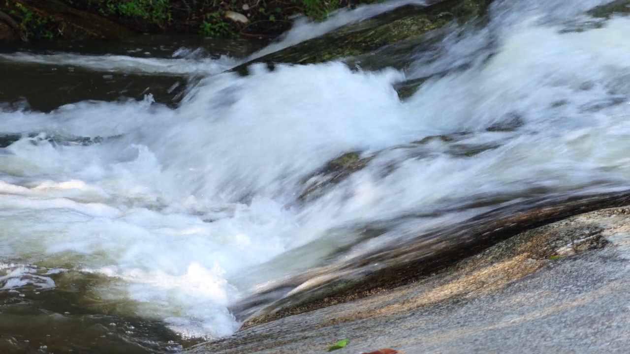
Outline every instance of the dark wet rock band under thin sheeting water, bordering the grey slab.
{"label": "dark wet rock band under thin sheeting water, bordering the grey slab", "polygon": [[[588,210],[628,203],[630,193],[617,193],[498,208],[460,224],[396,237],[360,258],[340,254],[326,265],[261,288],[265,300],[256,303],[258,295],[252,295],[235,305],[234,311],[243,319],[239,312],[251,315],[243,304],[256,303],[255,314],[248,315],[245,323],[253,326],[358,299],[425,278],[518,232]],[[277,300],[270,302],[274,297]]]}

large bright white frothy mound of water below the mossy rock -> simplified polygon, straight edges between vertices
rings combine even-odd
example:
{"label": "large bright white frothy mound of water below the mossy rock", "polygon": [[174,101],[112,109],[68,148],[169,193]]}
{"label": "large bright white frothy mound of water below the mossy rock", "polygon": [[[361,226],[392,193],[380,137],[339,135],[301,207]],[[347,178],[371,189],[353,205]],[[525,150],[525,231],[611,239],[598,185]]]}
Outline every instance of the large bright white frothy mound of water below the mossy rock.
{"label": "large bright white frothy mound of water below the mossy rock", "polygon": [[[300,178],[343,152],[375,151],[426,134],[401,114],[392,83],[402,77],[355,73],[341,63],[215,76],[192,93],[178,111],[178,127],[157,149],[187,193],[292,199]],[[188,151],[187,157],[174,150]]]}

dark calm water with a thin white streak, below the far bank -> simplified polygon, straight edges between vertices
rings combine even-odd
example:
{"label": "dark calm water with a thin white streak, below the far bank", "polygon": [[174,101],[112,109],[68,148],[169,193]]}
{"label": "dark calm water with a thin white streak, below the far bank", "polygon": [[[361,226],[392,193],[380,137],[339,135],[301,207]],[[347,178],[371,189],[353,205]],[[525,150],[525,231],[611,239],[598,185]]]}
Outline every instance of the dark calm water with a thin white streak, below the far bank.
{"label": "dark calm water with a thin white streak, below the far bank", "polygon": [[[147,94],[157,103],[176,106],[186,87],[213,70],[214,60],[226,55],[243,58],[263,45],[264,42],[253,40],[163,35],[134,36],[115,42],[54,40],[15,44],[0,49],[0,55],[8,56],[0,58],[0,109],[50,111],[86,100],[142,100]],[[146,63],[142,62],[145,58]],[[99,62],[111,67],[98,69]]]}

